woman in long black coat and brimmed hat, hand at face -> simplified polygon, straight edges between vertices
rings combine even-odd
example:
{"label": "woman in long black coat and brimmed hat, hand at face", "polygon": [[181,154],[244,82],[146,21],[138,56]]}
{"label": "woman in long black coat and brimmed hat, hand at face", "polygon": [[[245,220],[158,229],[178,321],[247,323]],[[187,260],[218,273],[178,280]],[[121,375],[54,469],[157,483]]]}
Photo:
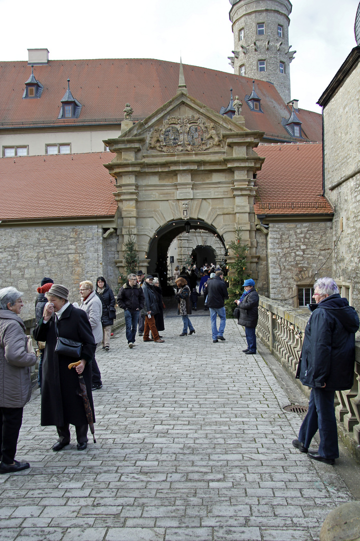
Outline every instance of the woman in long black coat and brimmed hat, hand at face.
{"label": "woman in long black coat and brimmed hat, hand at face", "polygon": [[[35,340],[46,342],[41,395],[41,425],[55,425],[57,428],[59,439],[53,445],[53,451],[60,451],[70,443],[69,425],[75,425],[77,448],[79,451],[83,451],[87,446],[89,425],[83,398],[77,394],[77,391],[79,375],[81,374],[84,378],[95,421],[90,363],[95,354],[96,344],[86,313],[73,307],[67,300],[67,295],[69,295],[69,289],[59,284],[53,284],[47,293],[49,302],[44,308],[44,316],[33,332]],[[61,338],[81,342],[80,359],[56,353],[57,335]],[[78,360],[80,360],[79,366],[69,370],[67,366]]]}

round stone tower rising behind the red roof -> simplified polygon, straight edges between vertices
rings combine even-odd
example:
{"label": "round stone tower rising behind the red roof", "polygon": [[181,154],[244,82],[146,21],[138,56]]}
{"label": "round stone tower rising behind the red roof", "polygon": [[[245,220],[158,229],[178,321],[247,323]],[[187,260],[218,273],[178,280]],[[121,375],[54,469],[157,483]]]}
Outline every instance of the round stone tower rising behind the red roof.
{"label": "round stone tower rising behind the red roof", "polygon": [[290,97],[289,0],[229,0],[234,51],[229,57],[236,75],[273,83],[288,103]]}

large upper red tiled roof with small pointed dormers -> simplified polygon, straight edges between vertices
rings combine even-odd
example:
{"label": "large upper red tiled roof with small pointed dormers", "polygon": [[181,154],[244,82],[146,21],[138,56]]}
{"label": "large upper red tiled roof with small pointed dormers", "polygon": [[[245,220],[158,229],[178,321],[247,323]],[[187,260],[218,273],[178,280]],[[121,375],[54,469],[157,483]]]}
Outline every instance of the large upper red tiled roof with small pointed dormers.
{"label": "large upper red tiled roof with small pointed dormers", "polygon": [[[81,124],[111,122],[124,118],[123,109],[129,102],[134,120],[142,120],[176,94],[179,64],[149,58],[116,58],[102,60],[52,60],[36,65],[34,75],[44,85],[39,99],[23,100],[25,81],[31,68],[27,62],[0,63],[0,128],[11,125]],[[190,96],[220,111],[227,107],[230,88],[243,103],[242,114],[250,130],[264,131],[266,136],[294,140],[281,124],[291,110],[283,102],[273,84],[256,81],[255,90],[261,98],[264,114],[250,111],[244,100],[253,89],[252,79],[223,71],[184,65],[185,81]],[[60,100],[70,78],[71,92],[82,105],[79,118],[57,120]],[[303,109],[296,113],[302,122],[304,138],[322,140],[321,115]]]}

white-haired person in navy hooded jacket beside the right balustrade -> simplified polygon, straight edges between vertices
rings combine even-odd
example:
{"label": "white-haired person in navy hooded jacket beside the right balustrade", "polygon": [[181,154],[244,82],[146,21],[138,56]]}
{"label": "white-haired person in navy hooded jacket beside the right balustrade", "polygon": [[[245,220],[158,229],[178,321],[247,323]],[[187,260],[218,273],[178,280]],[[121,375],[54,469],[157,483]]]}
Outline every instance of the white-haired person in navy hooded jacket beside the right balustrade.
{"label": "white-haired person in navy hooded jacket beside the right balustrade", "polygon": [[[334,411],[335,391],[351,389],[354,383],[355,333],[359,318],[355,308],[339,295],[332,278],[314,284],[315,304],[305,328],[296,378],[311,387],[309,410],[293,445],[310,458],[334,464],[339,456]],[[309,450],[320,433],[318,450]],[[309,451],[308,451],[309,450]]]}

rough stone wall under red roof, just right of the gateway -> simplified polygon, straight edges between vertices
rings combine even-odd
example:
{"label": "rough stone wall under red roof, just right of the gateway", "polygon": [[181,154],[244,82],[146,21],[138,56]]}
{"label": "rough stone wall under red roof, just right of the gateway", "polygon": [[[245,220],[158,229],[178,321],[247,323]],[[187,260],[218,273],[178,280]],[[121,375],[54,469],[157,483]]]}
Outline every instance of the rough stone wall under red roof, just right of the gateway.
{"label": "rough stone wall under red roof, just right of the gateway", "polygon": [[[312,285],[332,249],[331,222],[270,223],[268,279],[270,298],[296,305],[296,284]],[[259,263],[258,263],[259,266]],[[332,274],[329,258],[320,276]]]}

